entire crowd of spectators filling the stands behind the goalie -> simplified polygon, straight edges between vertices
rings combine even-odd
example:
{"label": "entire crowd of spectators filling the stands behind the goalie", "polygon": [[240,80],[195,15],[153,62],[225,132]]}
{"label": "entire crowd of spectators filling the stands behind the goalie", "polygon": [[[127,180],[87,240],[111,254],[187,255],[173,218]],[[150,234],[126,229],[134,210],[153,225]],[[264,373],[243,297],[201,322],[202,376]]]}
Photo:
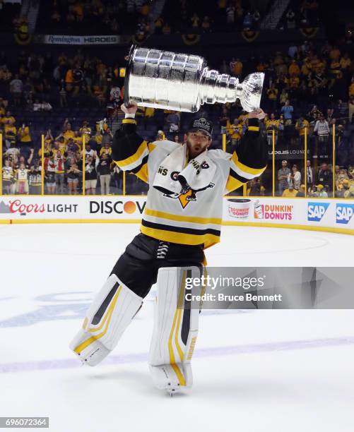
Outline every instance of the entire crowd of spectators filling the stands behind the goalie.
{"label": "entire crowd of spectators filling the stands behind the goalie", "polygon": [[[336,140],[336,164],[338,165],[336,172],[344,170],[346,174],[344,178],[342,172],[341,183],[339,180],[336,182],[338,193],[346,192],[347,181],[351,185],[353,177],[354,61],[352,36],[348,33],[348,38],[340,42],[338,44],[326,42],[319,46],[305,41],[300,45],[291,44],[285,52],[276,52],[269,56],[258,58],[252,55],[249,58],[233,56],[225,59],[219,67],[221,72],[230,73],[240,80],[253,71],[265,73],[261,106],[267,112],[267,116],[261,123],[261,132],[268,140],[270,153],[273,134],[276,148],[280,150],[303,149],[306,134],[309,150],[307,158],[311,167],[314,165],[312,179],[307,181],[309,186],[307,194],[319,193],[317,186],[320,186],[319,189],[323,186],[323,190],[320,191],[322,195],[332,191],[333,181],[323,183],[324,180],[319,179],[317,172],[322,162],[327,164],[327,169],[332,169],[333,133]],[[33,112],[34,116],[37,112],[54,116],[60,114],[61,110],[67,112],[71,107],[78,109],[90,107],[92,103],[102,107],[102,111],[106,112],[109,119],[107,128],[108,125],[111,126],[112,118],[122,117],[119,105],[124,95],[124,68],[119,67],[118,63],[105,64],[98,56],[83,54],[80,49],[74,55],[67,55],[63,52],[57,58],[50,52],[35,54],[23,51],[17,57],[16,64],[8,61],[7,57],[5,52],[0,52],[0,133],[4,136],[4,152],[8,154],[11,149],[13,152],[13,160],[9,163],[12,165],[13,174],[19,172],[20,156],[24,158],[26,169],[31,169],[31,164],[35,167],[35,162],[39,157],[40,142],[37,138],[33,138],[37,136],[37,131],[34,130],[35,125],[31,126],[20,116],[15,118],[12,112],[25,110]],[[143,134],[148,129],[154,130],[153,138],[155,138],[159,135],[158,131],[162,131],[161,133],[167,138],[180,142],[186,124],[183,119],[186,115],[191,114],[182,113],[181,115],[169,111],[162,114],[159,111],[151,108],[139,109],[138,124],[143,129],[140,132]],[[209,116],[214,121],[215,131],[218,134],[214,136],[216,138],[214,145],[220,147],[219,132],[225,133],[229,152],[237,148],[244,131],[247,130],[247,113],[242,111],[238,102],[225,105],[203,105],[195,115]],[[90,126],[86,125],[90,127],[90,133],[87,134],[83,132],[83,124],[77,124],[77,122],[72,130],[70,121],[66,121],[64,128],[61,123],[59,127],[52,127],[52,132],[46,133],[47,140],[52,136],[50,150],[53,150],[52,162],[48,162],[49,165],[47,162],[45,164],[46,176],[47,172],[51,172],[53,164],[64,164],[64,172],[54,172],[54,174],[64,174],[64,176],[54,175],[52,179],[54,178],[55,181],[46,182],[46,185],[50,184],[46,186],[47,193],[49,191],[50,193],[78,193],[82,187],[82,171],[86,170],[86,162],[88,162],[85,160],[84,168],[83,135],[85,135],[86,143],[90,142],[88,150],[91,159],[87,167],[90,180],[98,180],[100,193],[111,193],[114,191],[111,186],[116,179],[115,188],[122,191],[122,174],[117,169],[114,171],[110,155],[107,155],[107,164],[111,170],[110,182],[107,184],[107,177],[100,179],[101,175],[107,176],[107,173],[102,174],[102,159],[105,157],[102,158],[100,151],[105,148],[105,140],[110,142],[112,137],[110,137],[110,131],[101,126],[98,126],[99,130],[96,130],[98,120],[100,119],[93,116],[86,119],[90,124]],[[45,125],[42,125],[42,130],[43,128]],[[66,136],[60,137],[61,133]],[[103,144],[95,143],[96,138],[100,140],[100,136],[102,136]],[[64,143],[61,142],[63,139]],[[58,146],[61,148],[61,157],[55,151],[58,150]],[[31,159],[30,149],[33,149]],[[301,161],[303,157],[302,154],[298,160],[293,161],[297,165],[295,167],[297,177],[301,176],[300,184],[299,181],[294,184],[293,181],[289,181],[288,177],[286,182],[285,178],[277,179],[279,181],[276,188],[278,194],[282,195],[285,190],[289,189],[288,186],[291,183],[293,183],[293,191],[290,193],[300,191],[304,184],[304,167]],[[69,173],[67,171],[71,167],[71,162],[74,167]],[[7,164],[8,162],[3,160],[3,166],[6,167]],[[40,163],[37,165],[38,169],[40,165]],[[11,171],[10,167],[7,168],[7,171]],[[291,173],[293,173],[293,167],[291,167]],[[130,178],[133,176],[128,177],[129,182],[132,182]],[[68,181],[68,179],[72,180]],[[31,181],[29,186],[30,183]],[[282,186],[280,189],[280,183],[286,187]],[[136,187],[141,186],[138,184]],[[316,191],[312,191],[312,188],[315,187]],[[86,188],[88,193],[98,193],[95,181],[91,181]],[[254,193],[254,191],[259,191],[260,194],[271,193],[271,185],[264,179],[252,182],[248,185],[248,189],[249,193]],[[353,187],[350,186],[350,191],[352,189]],[[21,188],[15,186],[14,182],[11,187],[8,184],[6,186],[7,192],[13,193],[20,190],[22,191]],[[30,188],[25,188],[25,190],[30,191]]]}

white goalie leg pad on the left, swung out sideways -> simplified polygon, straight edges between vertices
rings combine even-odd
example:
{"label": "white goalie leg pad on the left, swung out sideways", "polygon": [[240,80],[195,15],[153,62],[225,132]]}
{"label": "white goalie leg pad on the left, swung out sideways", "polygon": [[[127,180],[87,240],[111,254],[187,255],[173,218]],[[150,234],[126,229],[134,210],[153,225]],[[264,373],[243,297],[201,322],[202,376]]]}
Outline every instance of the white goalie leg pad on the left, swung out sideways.
{"label": "white goalie leg pad on the left, swung out sideways", "polygon": [[83,364],[95,366],[110,354],[128,327],[143,299],[116,275],[110,275],[88,309],[83,327],[69,347]]}

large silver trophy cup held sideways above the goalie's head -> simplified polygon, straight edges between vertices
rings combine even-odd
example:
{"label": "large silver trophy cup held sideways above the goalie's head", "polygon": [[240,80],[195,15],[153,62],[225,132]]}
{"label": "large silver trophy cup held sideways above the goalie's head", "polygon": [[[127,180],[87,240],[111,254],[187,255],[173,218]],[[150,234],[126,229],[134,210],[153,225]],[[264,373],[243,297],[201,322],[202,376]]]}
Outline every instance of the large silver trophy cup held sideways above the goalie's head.
{"label": "large silver trophy cup held sideways above the goalie's head", "polygon": [[244,110],[259,109],[264,73],[238,78],[206,66],[203,57],[131,47],[124,83],[124,104],[197,112],[202,104],[240,100]]}

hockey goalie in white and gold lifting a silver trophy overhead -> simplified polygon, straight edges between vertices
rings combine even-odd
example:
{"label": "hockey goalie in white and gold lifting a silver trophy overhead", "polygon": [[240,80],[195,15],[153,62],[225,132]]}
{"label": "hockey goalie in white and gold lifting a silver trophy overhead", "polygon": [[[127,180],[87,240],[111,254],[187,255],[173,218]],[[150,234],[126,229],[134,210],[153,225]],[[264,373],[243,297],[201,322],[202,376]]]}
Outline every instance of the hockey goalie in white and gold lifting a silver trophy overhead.
{"label": "hockey goalie in white and gold lifting a silver trophy overhead", "polygon": [[[266,169],[268,149],[259,134],[265,114],[249,113],[247,131],[230,155],[208,150],[213,124],[207,118],[191,121],[182,145],[148,143],[136,133],[136,105],[121,109],[125,119],[114,135],[112,157],[120,169],[148,183],[146,207],[140,233],[117,260],[70,347],[83,364],[99,364],[156,283],[149,365],[156,387],[173,394],[192,385],[198,334],[199,308],[186,300],[184,281],[201,276],[204,249],[220,241],[224,194]],[[194,294],[201,289],[192,288]]]}

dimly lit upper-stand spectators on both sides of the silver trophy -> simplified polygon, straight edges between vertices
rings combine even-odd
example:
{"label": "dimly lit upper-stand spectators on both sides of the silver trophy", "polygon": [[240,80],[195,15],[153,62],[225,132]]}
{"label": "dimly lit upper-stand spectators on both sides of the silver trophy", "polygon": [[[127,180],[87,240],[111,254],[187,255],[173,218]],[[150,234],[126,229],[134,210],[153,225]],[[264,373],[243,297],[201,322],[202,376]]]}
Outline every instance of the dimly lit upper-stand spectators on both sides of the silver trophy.
{"label": "dimly lit upper-stand spectators on both sides of the silver trophy", "polygon": [[[326,112],[334,109],[338,100],[350,100],[351,118],[354,64],[350,49],[350,45],[338,47],[328,42],[314,47],[305,41],[273,56],[225,59],[219,70],[241,80],[252,71],[266,73],[262,103],[269,114],[274,112],[279,119],[282,115],[285,124],[293,123],[299,110],[306,115],[309,105]],[[81,49],[72,56],[63,52],[57,58],[50,52],[35,54],[23,50],[16,64],[11,64],[7,57],[0,52],[0,92],[10,93],[11,103],[29,111],[50,111],[54,104],[66,107],[83,96],[104,106],[110,99],[122,97],[124,91],[123,59],[120,65],[118,61],[105,64],[97,56],[83,54]],[[289,103],[285,104],[287,100]],[[343,109],[335,114],[343,117]],[[338,115],[334,118],[338,120]]]}

